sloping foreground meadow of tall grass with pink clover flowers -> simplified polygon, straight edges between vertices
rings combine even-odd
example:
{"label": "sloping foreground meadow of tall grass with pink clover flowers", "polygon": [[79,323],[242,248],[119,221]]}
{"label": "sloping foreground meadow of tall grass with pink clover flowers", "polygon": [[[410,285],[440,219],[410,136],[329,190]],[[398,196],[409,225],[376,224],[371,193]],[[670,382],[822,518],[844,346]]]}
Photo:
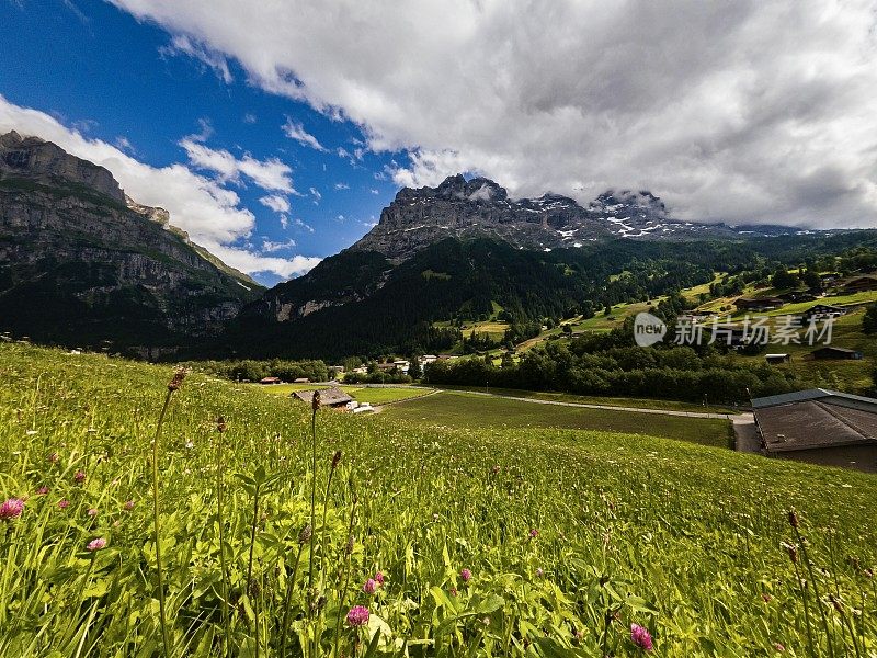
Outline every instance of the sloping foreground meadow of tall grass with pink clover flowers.
{"label": "sloping foreground meadow of tall grass with pink clover flowers", "polygon": [[0,373],[1,656],[642,655],[631,624],[657,656],[877,651],[873,476],[394,408],[312,441],[169,367],[7,344]]}

